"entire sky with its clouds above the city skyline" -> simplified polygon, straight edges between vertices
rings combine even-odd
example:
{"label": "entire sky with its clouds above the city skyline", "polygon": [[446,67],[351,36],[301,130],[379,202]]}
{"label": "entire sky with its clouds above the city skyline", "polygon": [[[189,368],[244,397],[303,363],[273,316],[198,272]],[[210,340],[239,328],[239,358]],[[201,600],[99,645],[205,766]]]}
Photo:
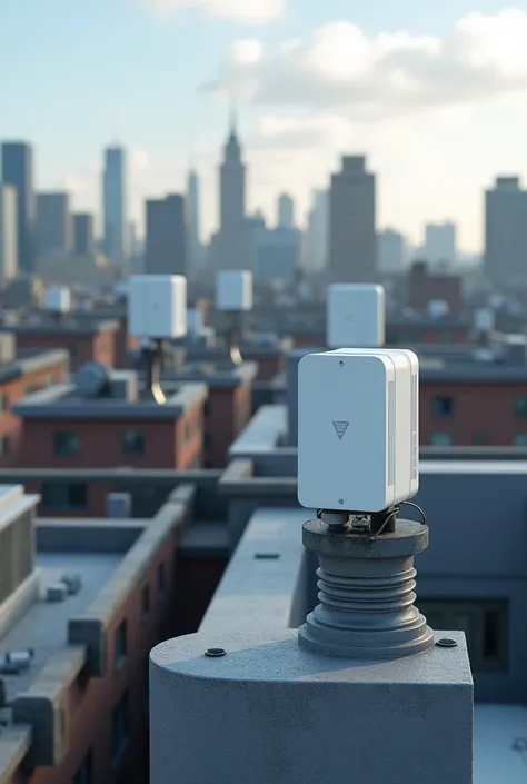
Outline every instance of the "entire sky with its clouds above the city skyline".
{"label": "entire sky with its clouds above the city skyline", "polygon": [[[250,211],[270,218],[287,188],[304,221],[311,190],[327,187],[340,156],[366,155],[379,175],[379,228],[417,242],[426,222],[454,219],[460,248],[480,250],[484,190],[496,176],[527,175],[527,12],[494,0],[479,0],[478,14],[449,0],[418,19],[402,0],[382,12],[341,0],[250,8],[272,19],[258,24],[266,20],[247,18],[236,0],[96,0],[74,10],[53,0],[28,30],[7,0],[0,46],[18,78],[0,76],[0,136],[34,145],[38,190],[67,188],[76,211],[97,207],[98,216],[101,150],[122,143],[130,216],[141,224],[143,201],[182,191],[193,165],[208,235],[235,95]],[[67,26],[82,29],[81,46]],[[12,46],[22,30],[33,58]],[[51,106],[53,121],[43,122]]]}

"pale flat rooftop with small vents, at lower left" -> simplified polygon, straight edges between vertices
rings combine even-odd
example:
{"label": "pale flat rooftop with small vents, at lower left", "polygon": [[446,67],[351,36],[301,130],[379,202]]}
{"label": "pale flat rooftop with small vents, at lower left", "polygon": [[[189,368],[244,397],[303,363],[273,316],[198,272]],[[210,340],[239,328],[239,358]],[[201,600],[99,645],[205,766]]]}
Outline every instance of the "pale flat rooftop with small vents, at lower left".
{"label": "pale flat rooftop with small vents, at lower left", "polygon": [[[0,638],[0,654],[33,648],[31,666],[20,675],[3,675],[8,699],[26,692],[37,678],[47,661],[68,644],[68,621],[82,614],[109,580],[123,555],[119,553],[40,553],[36,565],[41,570],[41,598],[32,604],[7,634]],[[64,602],[46,602],[48,585],[60,580],[64,573],[78,574],[82,587],[76,596]]]}

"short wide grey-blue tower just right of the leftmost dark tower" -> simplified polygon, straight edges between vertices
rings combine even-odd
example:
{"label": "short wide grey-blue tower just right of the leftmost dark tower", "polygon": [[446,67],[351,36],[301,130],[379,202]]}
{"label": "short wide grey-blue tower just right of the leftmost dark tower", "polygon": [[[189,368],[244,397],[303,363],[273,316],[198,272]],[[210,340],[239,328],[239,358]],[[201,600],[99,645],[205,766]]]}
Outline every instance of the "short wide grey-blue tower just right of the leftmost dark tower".
{"label": "short wide grey-blue tower just right of the leftmost dark tower", "polygon": [[36,259],[52,250],[70,251],[72,227],[69,193],[37,193]]}

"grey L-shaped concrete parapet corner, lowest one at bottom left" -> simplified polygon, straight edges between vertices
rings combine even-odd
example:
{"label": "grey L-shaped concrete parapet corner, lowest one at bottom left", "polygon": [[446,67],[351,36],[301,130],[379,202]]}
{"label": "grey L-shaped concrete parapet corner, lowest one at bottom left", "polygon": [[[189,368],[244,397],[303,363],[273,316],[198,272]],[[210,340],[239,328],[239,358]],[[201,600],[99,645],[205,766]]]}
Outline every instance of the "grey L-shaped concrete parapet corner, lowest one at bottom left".
{"label": "grey L-shaped concrete parapet corner, lowest one at bottom left", "polygon": [[64,648],[48,661],[28,691],[14,699],[13,723],[32,728],[26,757],[30,767],[53,767],[68,753],[68,688],[84,663],[83,647]]}

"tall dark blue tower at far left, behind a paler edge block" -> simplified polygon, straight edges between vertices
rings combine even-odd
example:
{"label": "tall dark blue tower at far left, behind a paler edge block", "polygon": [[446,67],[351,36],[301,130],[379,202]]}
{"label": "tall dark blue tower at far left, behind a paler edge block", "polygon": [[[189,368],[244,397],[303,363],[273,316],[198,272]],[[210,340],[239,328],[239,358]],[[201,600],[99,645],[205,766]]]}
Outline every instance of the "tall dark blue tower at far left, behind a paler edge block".
{"label": "tall dark blue tower at far left, behind a paler edge block", "polygon": [[18,260],[21,271],[33,264],[36,201],[33,190],[33,151],[22,141],[2,145],[2,180],[17,188]]}

